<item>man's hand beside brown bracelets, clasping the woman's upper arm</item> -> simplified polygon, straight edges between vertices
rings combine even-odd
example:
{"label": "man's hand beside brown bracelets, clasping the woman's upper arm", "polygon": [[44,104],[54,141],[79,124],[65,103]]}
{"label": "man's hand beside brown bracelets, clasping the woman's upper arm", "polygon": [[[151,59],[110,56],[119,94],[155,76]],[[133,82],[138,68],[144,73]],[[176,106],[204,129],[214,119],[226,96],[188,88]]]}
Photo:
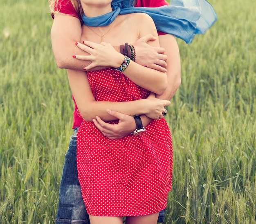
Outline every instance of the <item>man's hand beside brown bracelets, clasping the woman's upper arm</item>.
{"label": "man's hand beside brown bracelets, clasping the woman's upper arm", "polygon": [[142,66],[159,70],[160,72],[166,72],[167,56],[164,55],[164,48],[153,47],[147,44],[148,41],[153,41],[155,39],[156,37],[148,34],[139,38],[139,40],[133,44],[136,52],[135,62]]}

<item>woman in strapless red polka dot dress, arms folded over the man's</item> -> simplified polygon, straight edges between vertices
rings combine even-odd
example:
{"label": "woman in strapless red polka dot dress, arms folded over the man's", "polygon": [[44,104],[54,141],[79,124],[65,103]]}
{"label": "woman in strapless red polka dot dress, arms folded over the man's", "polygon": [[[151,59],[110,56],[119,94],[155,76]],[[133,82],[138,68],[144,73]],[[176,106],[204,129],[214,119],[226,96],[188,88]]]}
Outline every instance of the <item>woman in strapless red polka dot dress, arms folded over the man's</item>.
{"label": "woman in strapless red polka dot dress, arms folded over the man's", "polygon": [[[111,0],[81,3],[89,18],[112,13]],[[83,25],[81,40],[86,41],[76,43],[90,53],[83,56],[92,61],[86,70],[110,67],[88,71],[87,75],[68,72],[78,113],[84,119],[77,135],[77,169],[91,224],[121,224],[123,216],[127,224],[155,224],[159,211],[166,207],[173,154],[170,130],[162,113],[170,102],[155,97],[167,86],[166,73],[141,66],[112,47],[134,43],[147,34],[157,37],[148,15],[117,15],[106,26]],[[150,44],[159,46],[158,39]],[[135,116],[138,133],[120,139],[103,136],[92,120],[99,116],[117,123],[109,110]],[[143,120],[145,128],[138,114],[148,117]]]}

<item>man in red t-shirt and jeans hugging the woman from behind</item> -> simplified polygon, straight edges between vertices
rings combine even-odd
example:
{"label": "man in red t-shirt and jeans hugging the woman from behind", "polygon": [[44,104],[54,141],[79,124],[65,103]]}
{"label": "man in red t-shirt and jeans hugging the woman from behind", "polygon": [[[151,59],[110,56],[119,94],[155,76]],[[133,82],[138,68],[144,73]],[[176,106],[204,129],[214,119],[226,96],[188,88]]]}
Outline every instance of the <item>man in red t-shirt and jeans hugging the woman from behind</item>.
{"label": "man in red t-shirt and jeans hugging the woman from behind", "polygon": [[[165,0],[138,0],[135,1],[135,7],[159,7],[168,5]],[[76,12],[70,0],[59,0],[59,13],[55,13],[52,26],[52,47],[56,62],[60,68],[83,70],[90,64],[88,61],[76,60],[72,55],[85,54],[81,49],[75,46],[75,42],[80,41],[81,37],[81,19]],[[163,48],[153,48],[146,44],[152,36],[142,37],[134,44],[136,50],[136,62],[147,65],[155,69],[167,69],[168,90],[159,96],[160,99],[170,100],[180,85],[180,55],[176,39],[173,35],[158,32],[160,46]],[[68,46],[68,47],[67,47]],[[118,48],[117,48],[118,49]],[[168,64],[166,65],[166,56]],[[77,107],[74,110],[74,135],[70,138],[69,149],[66,153],[65,165],[61,180],[59,207],[56,216],[56,223],[90,223],[85,205],[81,196],[81,188],[77,178],[76,170],[76,132],[81,125],[82,119],[76,115]],[[97,122],[97,127],[103,134],[109,138],[121,138],[135,130],[134,120],[128,120],[127,115],[112,111],[112,116],[119,119],[117,126],[106,126],[103,121]],[[142,119],[143,120],[143,119]],[[163,222],[164,211],[159,213],[158,222]]]}

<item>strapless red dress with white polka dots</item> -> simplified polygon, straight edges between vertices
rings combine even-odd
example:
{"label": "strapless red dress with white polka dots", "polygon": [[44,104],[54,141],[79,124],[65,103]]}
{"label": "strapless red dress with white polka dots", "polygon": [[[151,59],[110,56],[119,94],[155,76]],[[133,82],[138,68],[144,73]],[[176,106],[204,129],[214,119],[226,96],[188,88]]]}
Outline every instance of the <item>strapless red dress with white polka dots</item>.
{"label": "strapless red dress with white polka dots", "polygon": [[[149,95],[113,68],[88,72],[88,79],[97,101],[133,101]],[[163,210],[171,190],[172,160],[171,133],[164,118],[150,122],[140,136],[114,140],[103,136],[93,122],[83,121],[77,134],[77,169],[86,210],[100,216]]]}

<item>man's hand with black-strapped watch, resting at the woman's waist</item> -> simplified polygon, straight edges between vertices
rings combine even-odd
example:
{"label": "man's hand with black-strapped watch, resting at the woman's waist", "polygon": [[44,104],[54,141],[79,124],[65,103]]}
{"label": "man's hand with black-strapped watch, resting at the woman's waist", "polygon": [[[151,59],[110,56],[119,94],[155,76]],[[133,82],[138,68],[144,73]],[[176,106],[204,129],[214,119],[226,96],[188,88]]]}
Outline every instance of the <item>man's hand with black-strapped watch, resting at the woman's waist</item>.
{"label": "man's hand with black-strapped watch, resting at the woman's waist", "polygon": [[136,129],[136,124],[133,116],[121,114],[114,110],[108,110],[111,116],[119,120],[117,124],[109,124],[101,120],[99,116],[93,119],[95,126],[102,132],[104,136],[110,139],[123,138],[131,134]]}

